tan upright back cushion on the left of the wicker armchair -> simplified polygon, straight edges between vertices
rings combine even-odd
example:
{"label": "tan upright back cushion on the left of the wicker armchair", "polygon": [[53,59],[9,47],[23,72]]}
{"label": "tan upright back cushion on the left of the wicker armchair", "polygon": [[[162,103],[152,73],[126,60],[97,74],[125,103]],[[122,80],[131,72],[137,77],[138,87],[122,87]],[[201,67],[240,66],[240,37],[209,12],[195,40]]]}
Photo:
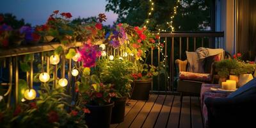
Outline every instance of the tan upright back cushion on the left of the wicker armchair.
{"label": "tan upright back cushion on the left of the wicker armchair", "polygon": [[205,73],[204,60],[200,60],[196,52],[186,51],[186,55],[188,60],[188,72]]}

